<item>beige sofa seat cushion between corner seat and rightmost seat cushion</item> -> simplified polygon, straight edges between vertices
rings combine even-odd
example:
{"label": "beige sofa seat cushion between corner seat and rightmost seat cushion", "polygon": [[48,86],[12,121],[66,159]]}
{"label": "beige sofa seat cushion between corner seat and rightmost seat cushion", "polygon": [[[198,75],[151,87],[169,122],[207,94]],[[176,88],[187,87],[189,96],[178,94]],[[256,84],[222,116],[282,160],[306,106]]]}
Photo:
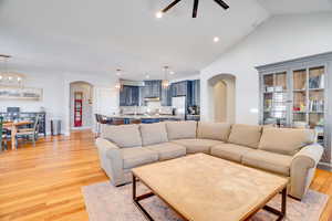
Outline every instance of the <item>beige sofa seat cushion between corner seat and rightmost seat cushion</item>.
{"label": "beige sofa seat cushion between corner seat and rightmost seat cushion", "polygon": [[237,162],[241,162],[242,156],[248,151],[255,151],[255,149],[250,147],[232,145],[232,144],[222,144],[222,145],[217,145],[211,147],[212,156],[237,161]]}

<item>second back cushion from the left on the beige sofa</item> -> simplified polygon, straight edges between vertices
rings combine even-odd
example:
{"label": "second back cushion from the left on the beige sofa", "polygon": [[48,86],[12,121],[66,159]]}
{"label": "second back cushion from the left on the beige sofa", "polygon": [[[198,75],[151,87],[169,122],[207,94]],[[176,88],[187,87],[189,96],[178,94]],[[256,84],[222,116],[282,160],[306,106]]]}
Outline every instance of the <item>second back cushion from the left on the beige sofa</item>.
{"label": "second back cushion from the left on the beige sofa", "polygon": [[142,124],[139,129],[143,146],[168,141],[165,123]]}

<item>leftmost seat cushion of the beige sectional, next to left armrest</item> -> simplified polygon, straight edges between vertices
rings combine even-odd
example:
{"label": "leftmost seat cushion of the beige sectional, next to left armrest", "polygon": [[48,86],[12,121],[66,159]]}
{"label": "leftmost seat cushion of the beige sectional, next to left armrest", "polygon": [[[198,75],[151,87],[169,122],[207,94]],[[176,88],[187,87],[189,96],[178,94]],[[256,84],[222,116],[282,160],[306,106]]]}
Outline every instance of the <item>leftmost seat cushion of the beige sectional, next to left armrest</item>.
{"label": "leftmost seat cushion of the beige sectional, next to left armrest", "polygon": [[158,154],[145,147],[122,148],[120,151],[123,156],[124,169],[158,161]]}

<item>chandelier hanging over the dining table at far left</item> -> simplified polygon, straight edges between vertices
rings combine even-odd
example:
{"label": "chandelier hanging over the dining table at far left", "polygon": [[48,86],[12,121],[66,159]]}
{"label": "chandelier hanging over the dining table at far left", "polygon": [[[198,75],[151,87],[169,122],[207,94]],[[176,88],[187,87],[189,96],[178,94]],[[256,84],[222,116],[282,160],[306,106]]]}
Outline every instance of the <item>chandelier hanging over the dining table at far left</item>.
{"label": "chandelier hanging over the dining table at far left", "polygon": [[0,54],[0,62],[2,64],[2,69],[0,69],[0,85],[22,86],[24,75],[8,71],[8,60],[10,57],[10,55]]}

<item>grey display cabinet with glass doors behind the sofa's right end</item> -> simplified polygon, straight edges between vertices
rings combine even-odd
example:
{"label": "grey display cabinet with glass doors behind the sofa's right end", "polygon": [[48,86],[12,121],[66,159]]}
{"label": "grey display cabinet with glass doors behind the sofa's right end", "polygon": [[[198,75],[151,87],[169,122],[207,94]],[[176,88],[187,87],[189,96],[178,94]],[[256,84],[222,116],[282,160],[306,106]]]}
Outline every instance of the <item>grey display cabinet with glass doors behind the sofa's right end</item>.
{"label": "grey display cabinet with glass doors behind the sofa's right end", "polygon": [[260,124],[315,129],[331,162],[332,53],[258,66]]}

